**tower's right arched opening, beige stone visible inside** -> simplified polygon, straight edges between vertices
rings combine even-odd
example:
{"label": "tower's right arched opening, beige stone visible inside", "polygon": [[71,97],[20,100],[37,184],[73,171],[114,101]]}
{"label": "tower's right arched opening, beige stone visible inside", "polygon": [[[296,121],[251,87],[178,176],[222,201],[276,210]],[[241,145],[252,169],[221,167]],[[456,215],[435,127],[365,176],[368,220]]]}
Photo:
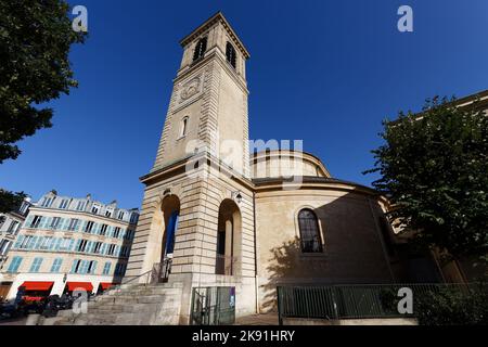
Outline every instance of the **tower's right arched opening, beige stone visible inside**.
{"label": "tower's right arched opening, beige stone visible inside", "polygon": [[230,198],[219,207],[216,274],[241,274],[241,211]]}

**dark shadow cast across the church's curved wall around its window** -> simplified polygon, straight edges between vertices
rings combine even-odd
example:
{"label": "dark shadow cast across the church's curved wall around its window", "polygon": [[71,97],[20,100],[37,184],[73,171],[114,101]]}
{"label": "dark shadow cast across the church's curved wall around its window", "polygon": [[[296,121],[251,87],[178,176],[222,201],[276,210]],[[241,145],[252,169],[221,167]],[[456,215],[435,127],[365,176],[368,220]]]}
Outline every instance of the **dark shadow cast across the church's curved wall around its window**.
{"label": "dark shadow cast across the church's curved wall around its window", "polygon": [[[301,202],[292,208],[299,208]],[[321,229],[323,252],[306,254],[297,230],[281,230],[277,246],[261,265],[260,307],[277,311],[277,285],[332,285],[395,282],[382,234],[383,211],[374,200],[349,193],[313,208]],[[290,211],[293,214],[293,211]],[[286,228],[286,227],[285,227]]]}

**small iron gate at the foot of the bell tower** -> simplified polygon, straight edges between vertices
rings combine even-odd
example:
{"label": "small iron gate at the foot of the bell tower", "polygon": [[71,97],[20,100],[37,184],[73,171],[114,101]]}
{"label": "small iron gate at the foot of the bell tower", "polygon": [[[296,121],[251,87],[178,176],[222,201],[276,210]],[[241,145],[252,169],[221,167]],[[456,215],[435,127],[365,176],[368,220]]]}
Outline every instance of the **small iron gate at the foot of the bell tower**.
{"label": "small iron gate at the foot of the bell tower", "polygon": [[192,325],[230,325],[235,322],[235,287],[194,287]]}

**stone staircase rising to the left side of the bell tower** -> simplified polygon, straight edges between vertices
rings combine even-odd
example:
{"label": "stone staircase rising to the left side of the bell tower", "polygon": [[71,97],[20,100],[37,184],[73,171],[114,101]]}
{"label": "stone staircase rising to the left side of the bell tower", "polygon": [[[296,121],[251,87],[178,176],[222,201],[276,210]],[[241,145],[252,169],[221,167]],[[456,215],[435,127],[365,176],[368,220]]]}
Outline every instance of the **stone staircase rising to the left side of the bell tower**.
{"label": "stone staircase rising to the left side of the bell tower", "polygon": [[88,303],[86,313],[60,311],[42,325],[177,325],[182,283],[124,284]]}

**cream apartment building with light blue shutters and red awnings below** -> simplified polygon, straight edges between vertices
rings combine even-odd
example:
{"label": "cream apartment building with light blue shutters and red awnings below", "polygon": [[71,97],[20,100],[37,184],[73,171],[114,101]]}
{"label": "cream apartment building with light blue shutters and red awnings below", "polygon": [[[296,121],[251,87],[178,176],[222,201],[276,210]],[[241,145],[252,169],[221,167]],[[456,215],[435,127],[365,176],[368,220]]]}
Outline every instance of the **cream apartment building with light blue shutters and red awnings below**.
{"label": "cream apartment building with light blue shutters and red awnings below", "polygon": [[138,209],[115,201],[44,194],[28,208],[0,269],[7,298],[20,287],[44,297],[80,288],[97,294],[120,283],[138,219]]}

